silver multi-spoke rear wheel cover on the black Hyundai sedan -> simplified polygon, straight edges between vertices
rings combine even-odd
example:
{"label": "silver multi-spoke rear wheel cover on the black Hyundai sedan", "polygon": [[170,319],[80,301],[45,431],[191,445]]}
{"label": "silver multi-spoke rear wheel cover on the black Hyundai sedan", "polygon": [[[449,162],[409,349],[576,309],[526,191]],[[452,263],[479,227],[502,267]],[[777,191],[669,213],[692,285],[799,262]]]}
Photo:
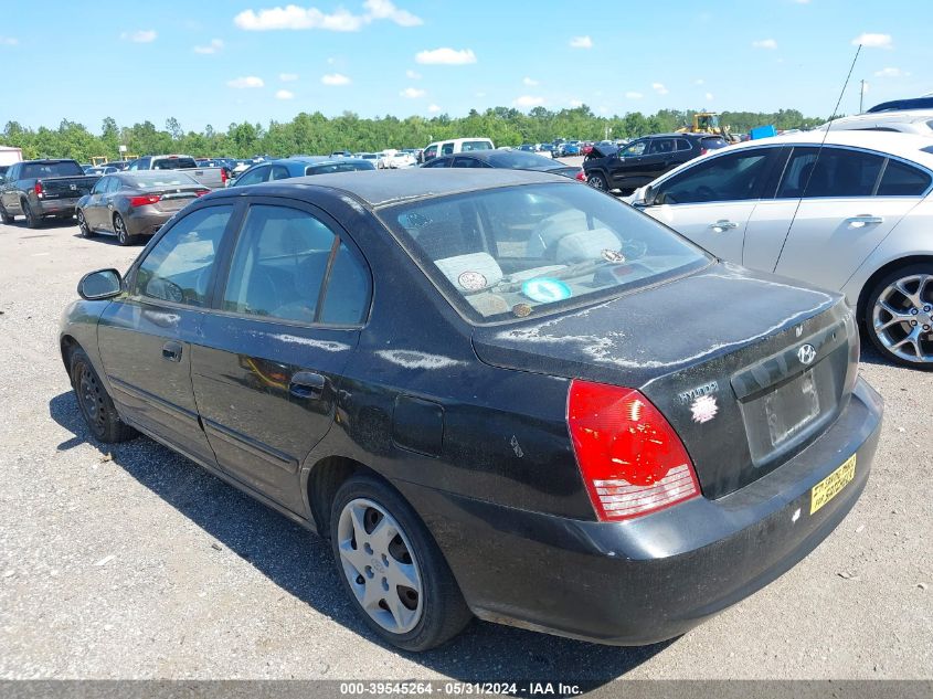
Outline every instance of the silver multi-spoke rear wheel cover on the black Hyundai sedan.
{"label": "silver multi-spoke rear wheel cover on the black Hyundai sedan", "polygon": [[353,595],[385,631],[404,634],[421,621],[421,569],[401,525],[381,505],[348,502],[337,525],[340,564]]}

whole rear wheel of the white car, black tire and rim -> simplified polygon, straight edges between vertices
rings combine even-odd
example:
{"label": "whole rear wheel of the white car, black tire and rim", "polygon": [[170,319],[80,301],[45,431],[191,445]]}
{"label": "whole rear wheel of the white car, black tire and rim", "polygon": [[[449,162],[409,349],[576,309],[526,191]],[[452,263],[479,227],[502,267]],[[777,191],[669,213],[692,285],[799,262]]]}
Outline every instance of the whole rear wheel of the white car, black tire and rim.
{"label": "whole rear wheel of the white car, black tire and rim", "polygon": [[866,333],[887,359],[933,371],[933,262],[887,274],[868,296]]}

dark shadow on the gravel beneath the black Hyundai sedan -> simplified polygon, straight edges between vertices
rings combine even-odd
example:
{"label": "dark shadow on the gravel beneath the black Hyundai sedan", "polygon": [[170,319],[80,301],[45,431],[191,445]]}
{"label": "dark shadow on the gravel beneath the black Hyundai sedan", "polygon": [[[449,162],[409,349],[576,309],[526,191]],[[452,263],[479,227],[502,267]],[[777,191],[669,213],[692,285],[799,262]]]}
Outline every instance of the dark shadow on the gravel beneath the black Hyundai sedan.
{"label": "dark shadow on the gravel beneath the black Hyundai sedan", "polygon": [[[60,451],[93,444],[140,484],[248,561],[279,587],[372,643],[339,586],[328,544],[192,462],[148,437],[95,442],[73,392],[49,403],[52,419],[74,436]],[[562,681],[594,689],[637,667],[670,643],[636,648],[601,646],[475,621],[442,648],[404,655],[463,681]]]}

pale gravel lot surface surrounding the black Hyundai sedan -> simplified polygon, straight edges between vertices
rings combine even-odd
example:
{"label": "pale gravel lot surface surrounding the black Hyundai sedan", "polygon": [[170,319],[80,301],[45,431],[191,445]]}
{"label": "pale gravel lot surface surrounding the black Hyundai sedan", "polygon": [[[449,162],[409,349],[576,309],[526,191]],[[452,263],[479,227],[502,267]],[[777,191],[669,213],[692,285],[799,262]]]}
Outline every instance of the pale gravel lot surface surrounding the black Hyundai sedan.
{"label": "pale gravel lot surface surrounding the black Hyundai sedan", "polygon": [[320,540],[148,438],[89,441],[59,317],[82,274],[138,252],[0,225],[0,679],[933,678],[933,374],[866,349],[887,416],[860,502],[686,636],[613,648],[477,622],[410,655],[357,621]]}

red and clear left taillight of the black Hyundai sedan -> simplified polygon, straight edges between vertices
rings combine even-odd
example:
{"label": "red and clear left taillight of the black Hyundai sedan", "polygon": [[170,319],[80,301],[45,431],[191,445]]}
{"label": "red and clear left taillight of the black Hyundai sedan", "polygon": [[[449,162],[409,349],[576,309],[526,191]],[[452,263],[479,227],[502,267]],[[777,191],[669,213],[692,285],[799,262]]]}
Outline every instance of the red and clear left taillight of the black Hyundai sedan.
{"label": "red and clear left taillight of the black Hyundai sedan", "polygon": [[680,437],[638,391],[574,380],[566,422],[600,520],[640,517],[700,495]]}

